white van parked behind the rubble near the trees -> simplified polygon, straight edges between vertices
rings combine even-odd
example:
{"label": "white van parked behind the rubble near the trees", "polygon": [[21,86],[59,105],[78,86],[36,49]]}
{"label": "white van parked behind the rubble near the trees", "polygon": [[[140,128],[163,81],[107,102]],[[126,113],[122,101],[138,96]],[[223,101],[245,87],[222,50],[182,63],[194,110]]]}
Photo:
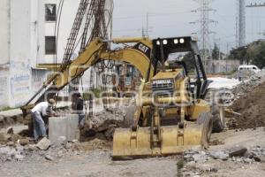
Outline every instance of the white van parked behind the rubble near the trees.
{"label": "white van parked behind the rubble near the trees", "polygon": [[239,65],[239,70],[238,70],[239,81],[246,80],[253,74],[258,73],[260,71],[261,69],[258,68],[258,66],[256,65]]}

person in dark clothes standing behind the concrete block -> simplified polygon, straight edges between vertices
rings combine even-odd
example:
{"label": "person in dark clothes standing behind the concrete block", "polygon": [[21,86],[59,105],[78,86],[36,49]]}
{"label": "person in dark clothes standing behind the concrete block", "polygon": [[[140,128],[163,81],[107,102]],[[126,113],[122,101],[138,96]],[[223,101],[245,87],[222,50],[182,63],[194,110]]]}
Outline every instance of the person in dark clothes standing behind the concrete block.
{"label": "person in dark clothes standing behind the concrete block", "polygon": [[84,114],[84,100],[80,93],[76,94],[73,104],[73,112],[79,114],[79,126],[82,127],[85,124],[85,114]]}

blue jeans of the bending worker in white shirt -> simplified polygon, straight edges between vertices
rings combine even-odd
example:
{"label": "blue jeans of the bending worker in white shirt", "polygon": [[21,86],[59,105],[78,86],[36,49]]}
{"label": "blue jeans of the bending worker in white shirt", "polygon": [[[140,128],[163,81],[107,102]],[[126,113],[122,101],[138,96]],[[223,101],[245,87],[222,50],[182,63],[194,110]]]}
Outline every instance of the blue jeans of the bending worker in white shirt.
{"label": "blue jeans of the bending worker in white shirt", "polygon": [[38,140],[40,137],[47,136],[45,123],[42,119],[40,112],[32,112],[32,119],[34,122],[34,140]]}

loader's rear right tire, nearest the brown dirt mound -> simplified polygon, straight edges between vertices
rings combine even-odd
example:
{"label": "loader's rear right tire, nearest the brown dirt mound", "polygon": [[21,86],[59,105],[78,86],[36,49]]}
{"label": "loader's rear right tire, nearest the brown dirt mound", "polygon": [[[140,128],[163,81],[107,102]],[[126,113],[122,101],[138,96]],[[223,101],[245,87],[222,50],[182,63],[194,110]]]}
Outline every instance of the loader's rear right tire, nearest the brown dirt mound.
{"label": "loader's rear right tire, nearest the brown dirt mound", "polygon": [[217,105],[212,106],[212,115],[213,115],[213,133],[220,133],[223,131],[224,122],[222,121],[221,116],[223,116],[223,110]]}

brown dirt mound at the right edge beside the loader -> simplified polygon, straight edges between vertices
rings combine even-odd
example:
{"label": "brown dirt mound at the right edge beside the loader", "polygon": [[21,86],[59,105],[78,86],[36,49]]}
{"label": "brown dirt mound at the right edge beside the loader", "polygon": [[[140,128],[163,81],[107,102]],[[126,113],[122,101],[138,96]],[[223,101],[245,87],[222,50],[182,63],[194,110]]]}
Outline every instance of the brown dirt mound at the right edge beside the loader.
{"label": "brown dirt mound at the right edge beside the loader", "polygon": [[265,82],[240,96],[231,109],[241,116],[229,120],[230,129],[265,127]]}

